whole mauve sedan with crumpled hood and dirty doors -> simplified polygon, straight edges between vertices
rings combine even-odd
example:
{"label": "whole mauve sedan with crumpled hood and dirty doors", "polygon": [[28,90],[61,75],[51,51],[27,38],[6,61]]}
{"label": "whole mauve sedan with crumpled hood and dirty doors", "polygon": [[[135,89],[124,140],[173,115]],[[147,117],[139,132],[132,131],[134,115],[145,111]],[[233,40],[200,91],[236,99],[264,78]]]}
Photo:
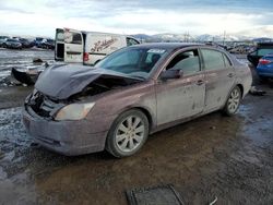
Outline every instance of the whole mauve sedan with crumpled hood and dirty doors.
{"label": "whole mauve sedan with crumpled hood and dirty doors", "polygon": [[149,134],[222,110],[234,114],[252,82],[246,64],[210,46],[146,44],[94,68],[46,69],[26,98],[23,122],[63,155],[136,153]]}

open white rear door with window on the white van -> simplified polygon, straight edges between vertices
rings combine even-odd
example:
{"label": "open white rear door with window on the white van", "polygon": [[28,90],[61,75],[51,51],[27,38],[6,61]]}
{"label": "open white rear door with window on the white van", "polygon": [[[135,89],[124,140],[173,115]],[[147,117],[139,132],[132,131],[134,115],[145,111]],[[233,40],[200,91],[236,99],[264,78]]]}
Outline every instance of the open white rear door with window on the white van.
{"label": "open white rear door with window on the white van", "polygon": [[82,32],[64,28],[64,62],[83,63],[83,45]]}

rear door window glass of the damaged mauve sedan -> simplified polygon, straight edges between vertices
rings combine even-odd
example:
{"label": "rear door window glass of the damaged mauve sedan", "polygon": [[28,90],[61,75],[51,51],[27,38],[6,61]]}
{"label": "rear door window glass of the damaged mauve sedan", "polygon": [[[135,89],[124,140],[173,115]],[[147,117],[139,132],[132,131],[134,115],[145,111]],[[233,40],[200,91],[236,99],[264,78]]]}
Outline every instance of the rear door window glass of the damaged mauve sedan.
{"label": "rear door window glass of the damaged mauve sedan", "polygon": [[211,49],[201,49],[206,71],[225,69],[222,52]]}

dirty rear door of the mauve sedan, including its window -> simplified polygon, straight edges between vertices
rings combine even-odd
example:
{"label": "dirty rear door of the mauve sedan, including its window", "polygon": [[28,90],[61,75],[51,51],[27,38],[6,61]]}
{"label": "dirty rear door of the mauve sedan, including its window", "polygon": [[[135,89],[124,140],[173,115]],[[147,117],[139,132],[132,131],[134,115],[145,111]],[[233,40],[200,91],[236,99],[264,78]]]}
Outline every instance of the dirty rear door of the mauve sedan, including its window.
{"label": "dirty rear door of the mauve sedan, including its window", "polygon": [[235,70],[229,58],[218,50],[201,49],[205,71],[204,111],[215,110],[225,105],[235,82]]}

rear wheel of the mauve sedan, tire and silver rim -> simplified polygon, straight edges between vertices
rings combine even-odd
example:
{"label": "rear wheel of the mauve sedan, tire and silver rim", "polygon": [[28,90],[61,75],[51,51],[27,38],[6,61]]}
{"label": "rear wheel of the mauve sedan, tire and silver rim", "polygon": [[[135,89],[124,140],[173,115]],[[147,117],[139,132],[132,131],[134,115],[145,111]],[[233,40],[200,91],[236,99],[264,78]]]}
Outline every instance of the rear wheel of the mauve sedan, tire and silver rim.
{"label": "rear wheel of the mauve sedan, tire and silver rim", "polygon": [[[238,104],[236,104],[237,100],[238,100]],[[225,107],[223,109],[224,113],[226,116],[234,116],[240,106],[240,101],[241,101],[241,91],[238,86],[236,86],[232,89],[232,92],[228,95]]]}

